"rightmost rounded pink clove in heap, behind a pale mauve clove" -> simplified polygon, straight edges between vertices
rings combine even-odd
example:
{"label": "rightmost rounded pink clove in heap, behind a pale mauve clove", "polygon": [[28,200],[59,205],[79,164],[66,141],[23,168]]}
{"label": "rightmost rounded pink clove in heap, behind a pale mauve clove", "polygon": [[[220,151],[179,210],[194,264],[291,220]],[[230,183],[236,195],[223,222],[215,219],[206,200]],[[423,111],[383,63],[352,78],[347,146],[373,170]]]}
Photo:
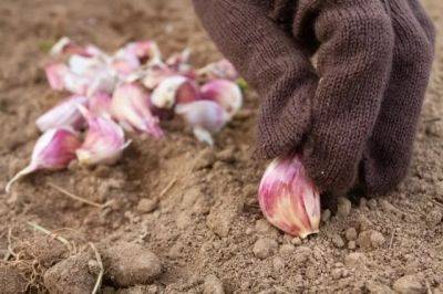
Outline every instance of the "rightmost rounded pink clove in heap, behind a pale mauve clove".
{"label": "rightmost rounded pink clove in heap, behind a pale mauve clove", "polygon": [[217,102],[233,117],[243,105],[243,94],[239,86],[228,80],[214,80],[200,88],[202,98]]}

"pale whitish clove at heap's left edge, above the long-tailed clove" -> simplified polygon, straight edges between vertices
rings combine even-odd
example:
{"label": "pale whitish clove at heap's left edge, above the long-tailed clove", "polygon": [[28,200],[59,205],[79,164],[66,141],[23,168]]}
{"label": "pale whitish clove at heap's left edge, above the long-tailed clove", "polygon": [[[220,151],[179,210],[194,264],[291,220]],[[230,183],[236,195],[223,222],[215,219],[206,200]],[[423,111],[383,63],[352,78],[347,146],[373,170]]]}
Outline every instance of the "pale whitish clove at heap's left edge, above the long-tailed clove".
{"label": "pale whitish clove at heap's left edge, above the long-tailed clove", "polygon": [[37,118],[35,125],[41,132],[63,126],[80,129],[84,124],[84,119],[76,108],[76,105],[86,104],[87,98],[85,96],[73,95],[68,97],[62,103]]}

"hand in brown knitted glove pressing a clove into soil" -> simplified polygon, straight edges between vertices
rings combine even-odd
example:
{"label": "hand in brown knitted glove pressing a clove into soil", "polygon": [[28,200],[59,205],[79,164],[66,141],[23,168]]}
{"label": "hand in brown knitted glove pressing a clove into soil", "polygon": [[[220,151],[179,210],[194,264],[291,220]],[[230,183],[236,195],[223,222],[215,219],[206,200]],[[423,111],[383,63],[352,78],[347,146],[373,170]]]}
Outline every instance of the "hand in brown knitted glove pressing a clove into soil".
{"label": "hand in brown knitted glove pressing a clove into soil", "polygon": [[419,0],[193,1],[261,97],[258,155],[302,153],[321,191],[405,177],[435,38]]}

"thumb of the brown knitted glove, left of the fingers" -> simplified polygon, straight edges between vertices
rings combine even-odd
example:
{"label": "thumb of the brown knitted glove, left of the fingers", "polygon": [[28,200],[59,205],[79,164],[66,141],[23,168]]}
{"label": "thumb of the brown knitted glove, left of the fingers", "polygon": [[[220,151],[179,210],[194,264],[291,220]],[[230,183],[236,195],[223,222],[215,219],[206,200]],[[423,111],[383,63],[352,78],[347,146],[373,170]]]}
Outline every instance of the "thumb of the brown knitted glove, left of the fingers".
{"label": "thumb of the brown knitted glove, left of the fingers", "polygon": [[257,155],[297,148],[310,126],[317,74],[303,49],[259,0],[194,0],[203,25],[261,97]]}

